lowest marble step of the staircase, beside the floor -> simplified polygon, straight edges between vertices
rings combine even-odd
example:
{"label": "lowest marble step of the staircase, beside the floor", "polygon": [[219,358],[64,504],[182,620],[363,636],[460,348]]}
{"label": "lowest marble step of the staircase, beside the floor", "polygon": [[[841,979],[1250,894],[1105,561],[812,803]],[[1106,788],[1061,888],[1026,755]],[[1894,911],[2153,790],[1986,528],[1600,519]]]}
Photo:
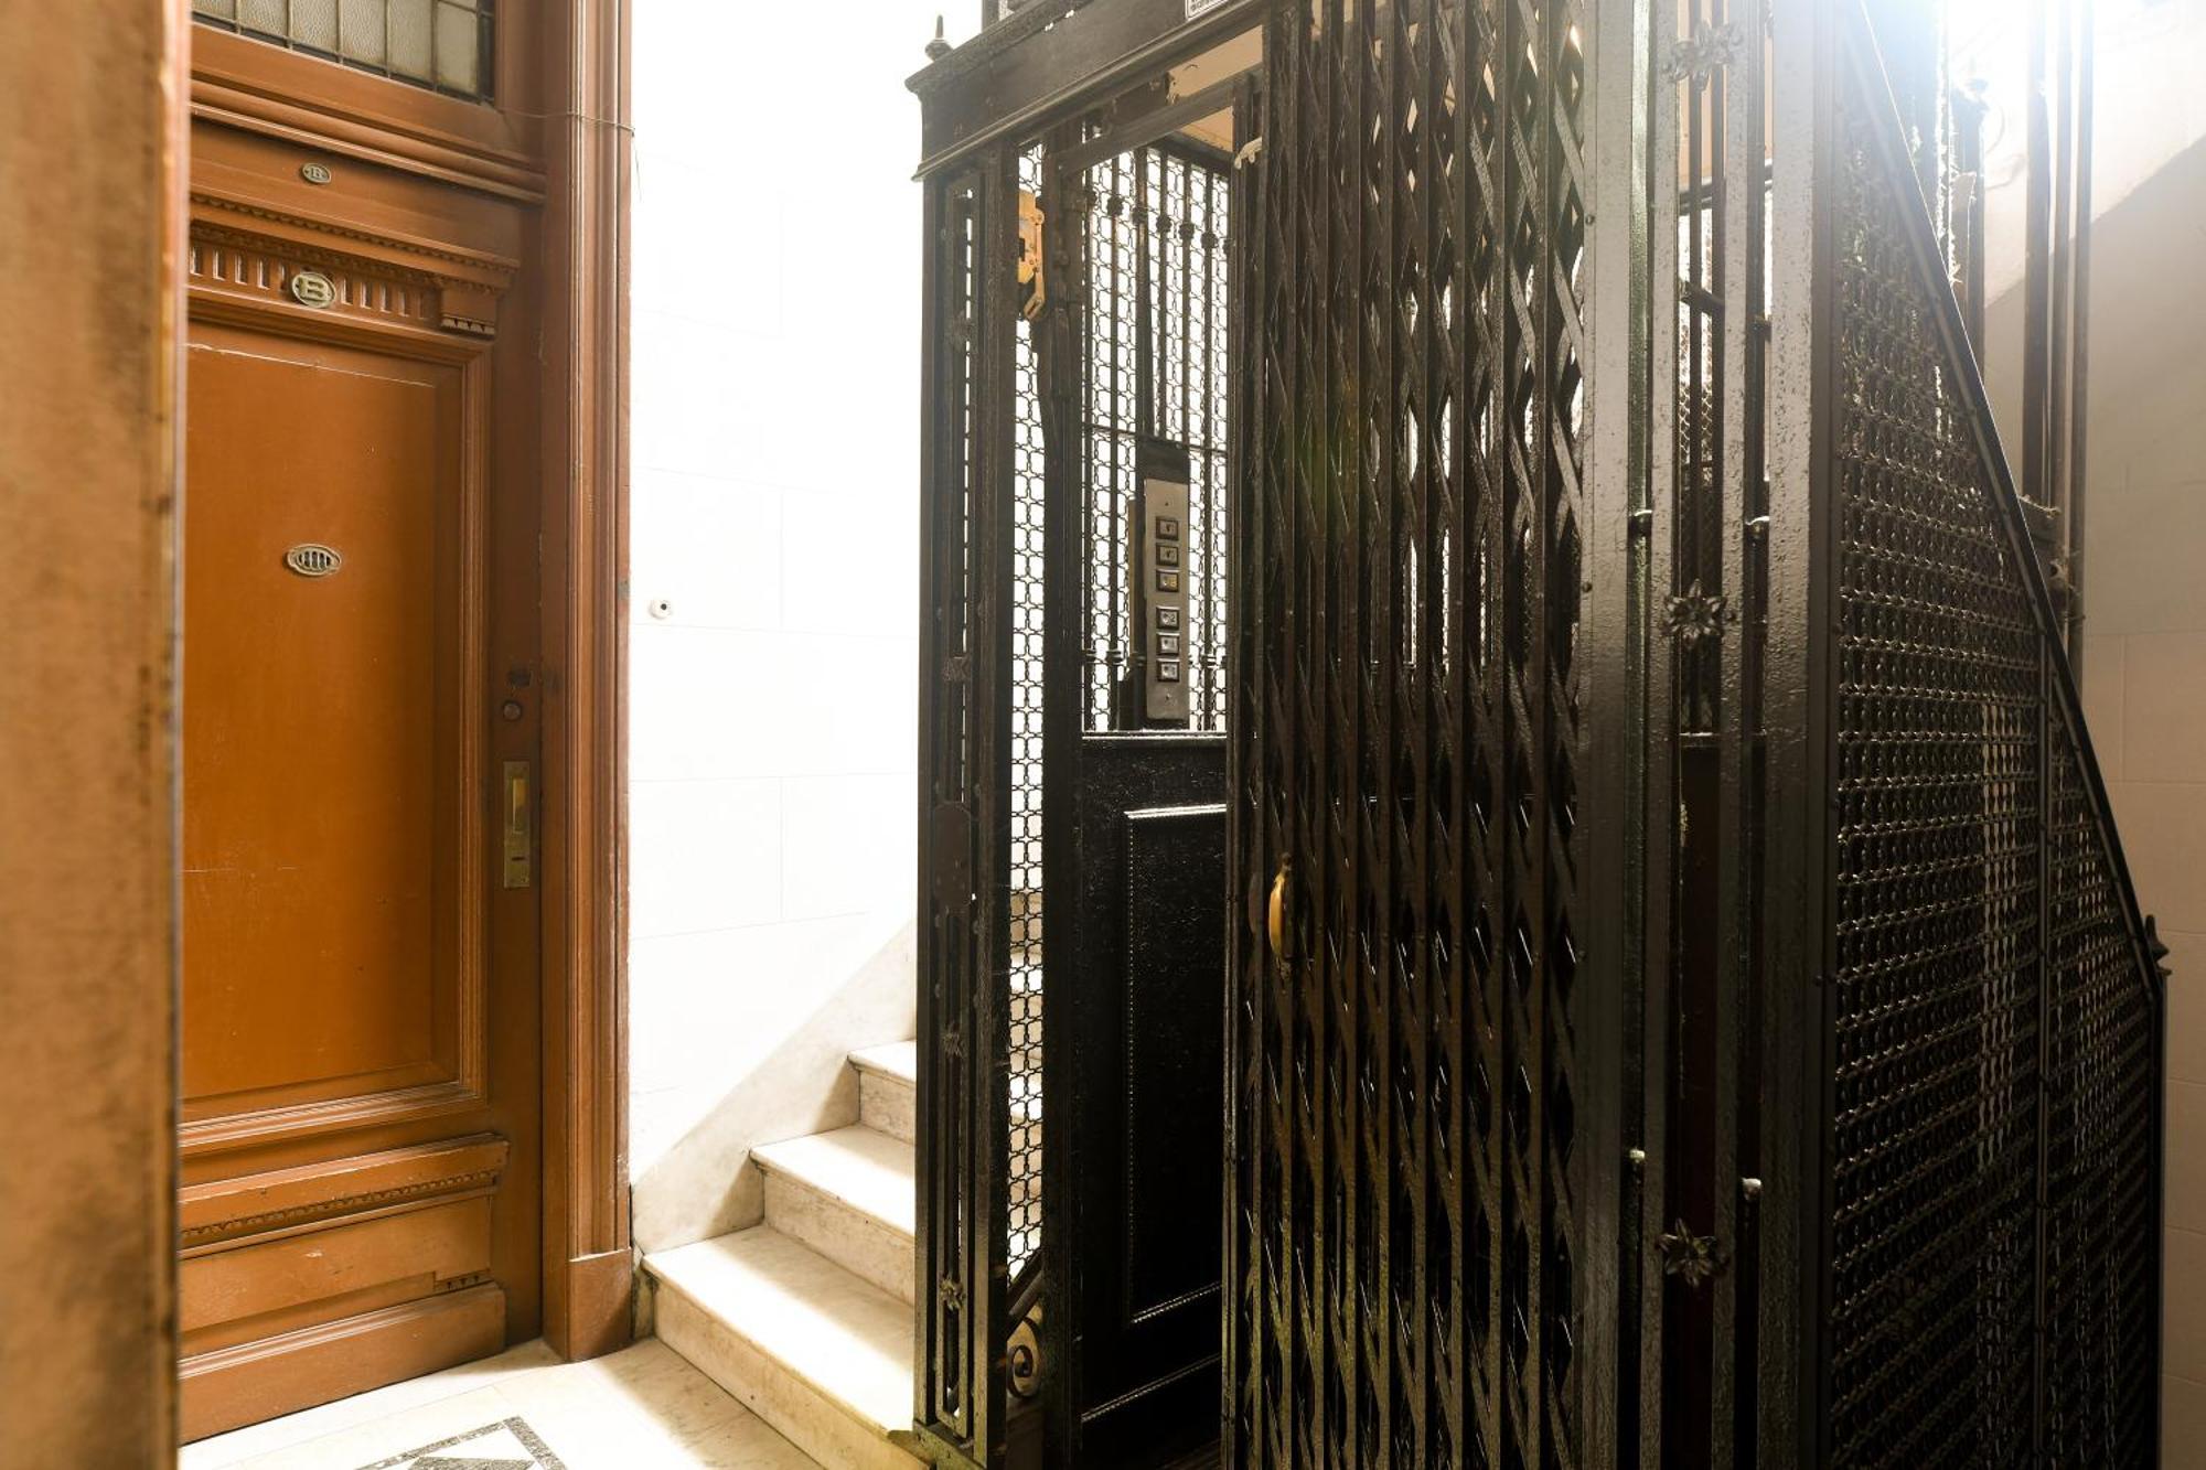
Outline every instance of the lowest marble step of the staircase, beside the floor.
{"label": "lowest marble step of the staircase, beside the floor", "polygon": [[660,1340],[821,1466],[911,1470],[911,1307],[772,1225],[644,1256]]}

